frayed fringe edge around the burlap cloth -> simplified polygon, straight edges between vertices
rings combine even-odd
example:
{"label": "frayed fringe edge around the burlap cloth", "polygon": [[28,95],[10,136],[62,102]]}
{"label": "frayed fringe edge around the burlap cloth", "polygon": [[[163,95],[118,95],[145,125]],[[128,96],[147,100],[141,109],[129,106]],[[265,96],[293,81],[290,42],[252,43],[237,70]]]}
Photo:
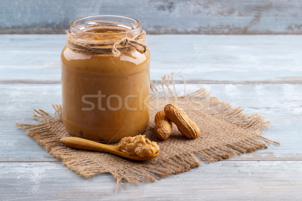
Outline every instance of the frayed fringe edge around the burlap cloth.
{"label": "frayed fringe edge around the burlap cloth", "polygon": [[270,121],[266,122],[264,117],[258,114],[247,116],[247,114],[243,113],[243,109],[241,108],[232,108],[229,103],[221,102],[215,97],[208,98],[209,93],[205,92],[204,88],[200,88],[193,93],[186,94],[185,80],[185,94],[183,96],[178,96],[175,89],[173,74],[171,76],[171,82],[174,92],[170,89],[169,77],[170,76],[162,77],[163,79],[160,84],[157,81],[151,82],[150,89],[154,93],[153,98],[166,98],[169,100],[177,98],[194,98],[194,100],[200,100],[206,106],[206,109],[210,114],[223,118],[239,127],[253,131],[257,133],[257,135],[247,137],[236,143],[225,144],[219,147],[211,147],[200,151],[188,151],[186,153],[170,157],[167,160],[162,161],[160,164],[149,165],[143,169],[139,167],[125,167],[124,171],[121,172],[103,169],[97,166],[93,160],[74,160],[73,158],[68,157],[69,154],[72,154],[73,150],[62,145],[59,141],[60,137],[50,129],[52,124],[61,122],[61,105],[52,105],[55,109],[54,117],[43,110],[34,110],[33,117],[37,117],[41,122],[40,124],[33,125],[17,123],[16,126],[21,127],[23,130],[30,129],[26,132],[27,135],[32,136],[40,145],[44,146],[47,152],[62,159],[63,164],[80,175],[90,177],[97,173],[108,172],[112,174],[117,180],[116,189],[118,184],[124,184],[124,181],[155,181],[156,179],[160,180],[161,177],[165,177],[165,175],[188,171],[191,168],[200,165],[198,155],[202,156],[205,161],[210,163],[221,159],[228,159],[235,154],[240,155],[241,153],[255,151],[260,148],[267,148],[267,145],[270,145],[270,143],[280,144],[260,136],[260,134],[271,124]]}

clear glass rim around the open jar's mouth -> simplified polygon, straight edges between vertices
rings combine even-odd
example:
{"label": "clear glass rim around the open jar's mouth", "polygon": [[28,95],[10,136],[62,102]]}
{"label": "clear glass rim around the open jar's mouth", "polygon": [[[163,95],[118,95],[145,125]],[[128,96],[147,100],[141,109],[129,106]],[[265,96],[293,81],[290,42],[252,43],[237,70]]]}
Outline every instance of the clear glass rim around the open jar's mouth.
{"label": "clear glass rim around the open jar's mouth", "polygon": [[[70,28],[76,30],[77,32],[82,32],[82,33],[86,33],[86,34],[95,34],[95,35],[98,35],[98,34],[101,34],[101,35],[112,35],[112,33],[94,33],[94,32],[89,32],[89,31],[83,31],[81,29],[79,29],[79,25],[78,26],[75,26],[75,23],[77,22],[80,22],[80,21],[85,21],[85,20],[89,20],[89,19],[99,19],[100,21],[103,21],[103,22],[111,22],[111,23],[121,23],[121,22],[118,22],[118,21],[110,21],[110,20],[102,20],[102,18],[112,18],[112,19],[124,19],[124,20],[129,20],[130,21],[133,21],[134,23],[132,23],[132,29],[129,29],[127,31],[121,31],[119,32],[119,34],[126,34],[126,33],[129,33],[129,32],[135,32],[140,28],[140,23],[138,20],[134,19],[134,18],[130,18],[130,17],[125,17],[125,16],[118,16],[118,15],[97,15],[97,16],[86,16],[86,17],[82,17],[82,18],[79,18],[79,19],[76,19],[76,20],[73,20],[71,23],[70,23]],[[87,23],[87,21],[86,21]],[[131,25],[128,24],[128,27],[131,27]],[[116,34],[116,33],[115,33]]]}

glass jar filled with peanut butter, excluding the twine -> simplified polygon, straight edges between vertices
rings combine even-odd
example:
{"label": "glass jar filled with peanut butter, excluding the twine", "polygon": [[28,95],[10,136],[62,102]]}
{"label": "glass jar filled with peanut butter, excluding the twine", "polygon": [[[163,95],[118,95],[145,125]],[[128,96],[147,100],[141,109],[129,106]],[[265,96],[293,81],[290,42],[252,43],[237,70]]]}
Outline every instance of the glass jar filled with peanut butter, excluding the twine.
{"label": "glass jar filled with peanut butter, excluding the twine", "polygon": [[[140,23],[122,16],[91,16],[75,20],[68,31],[82,46],[112,43],[142,33]],[[117,46],[120,46],[118,43]],[[130,46],[129,46],[130,47]],[[131,48],[116,56],[73,50],[61,53],[62,121],[76,137],[118,141],[145,131],[149,121],[149,63],[147,48]],[[105,49],[106,50],[106,49]]]}

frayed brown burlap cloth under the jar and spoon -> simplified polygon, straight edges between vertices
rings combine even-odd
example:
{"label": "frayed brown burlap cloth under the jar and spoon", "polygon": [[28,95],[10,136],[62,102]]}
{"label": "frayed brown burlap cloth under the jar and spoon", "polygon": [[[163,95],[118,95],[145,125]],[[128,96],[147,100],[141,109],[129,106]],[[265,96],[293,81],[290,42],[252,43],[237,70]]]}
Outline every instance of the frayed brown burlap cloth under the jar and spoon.
{"label": "frayed brown burlap cloth under the jar and spoon", "polygon": [[[169,78],[168,78],[169,79]],[[232,108],[229,103],[216,97],[209,97],[203,88],[183,96],[172,92],[169,80],[164,77],[161,84],[150,85],[153,97],[150,101],[150,122],[144,135],[160,146],[160,154],[149,161],[132,161],[109,153],[77,150],[62,145],[62,137],[70,136],[61,121],[61,105],[53,105],[52,117],[43,110],[34,110],[34,117],[40,124],[16,124],[32,136],[47,152],[62,160],[71,170],[90,177],[97,173],[109,172],[116,178],[117,186],[124,181],[155,181],[167,174],[177,174],[200,165],[200,160],[215,162],[228,159],[234,154],[267,148],[271,142],[260,134],[270,122],[254,114],[247,116],[241,108]],[[174,86],[174,83],[173,85]],[[154,134],[154,117],[165,105],[171,103],[181,107],[199,126],[200,136],[195,140],[184,137],[173,126],[171,136],[159,140]]]}

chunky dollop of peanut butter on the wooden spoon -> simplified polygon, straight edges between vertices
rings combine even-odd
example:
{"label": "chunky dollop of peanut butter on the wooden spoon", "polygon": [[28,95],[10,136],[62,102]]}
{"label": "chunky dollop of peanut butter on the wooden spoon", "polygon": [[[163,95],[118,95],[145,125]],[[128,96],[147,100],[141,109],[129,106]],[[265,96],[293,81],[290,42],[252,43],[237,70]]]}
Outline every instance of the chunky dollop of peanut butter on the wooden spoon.
{"label": "chunky dollop of peanut butter on the wooden spoon", "polygon": [[146,139],[144,135],[125,137],[117,145],[117,150],[133,156],[150,157],[159,152],[156,142]]}

